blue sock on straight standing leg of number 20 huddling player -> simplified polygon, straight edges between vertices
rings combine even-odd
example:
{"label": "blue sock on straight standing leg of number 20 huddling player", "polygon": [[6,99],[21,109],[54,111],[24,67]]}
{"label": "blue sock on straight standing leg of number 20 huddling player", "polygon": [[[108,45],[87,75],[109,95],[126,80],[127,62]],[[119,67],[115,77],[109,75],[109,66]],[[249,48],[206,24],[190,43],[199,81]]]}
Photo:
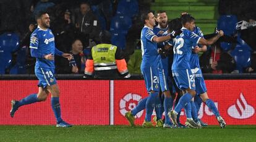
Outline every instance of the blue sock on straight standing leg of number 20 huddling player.
{"label": "blue sock on straight standing leg of number 20 huddling player", "polygon": [[146,102],[146,116],[145,120],[147,122],[151,121],[151,115],[155,107],[156,98],[158,97],[158,92],[150,93]]}

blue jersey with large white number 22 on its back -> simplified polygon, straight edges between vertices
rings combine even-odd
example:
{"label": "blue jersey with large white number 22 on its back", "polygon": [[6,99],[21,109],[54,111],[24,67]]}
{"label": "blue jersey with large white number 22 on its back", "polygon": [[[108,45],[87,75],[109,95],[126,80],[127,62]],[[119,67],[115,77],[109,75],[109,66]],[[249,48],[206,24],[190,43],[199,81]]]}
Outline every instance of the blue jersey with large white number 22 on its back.
{"label": "blue jersey with large white number 22 on its back", "polygon": [[181,31],[181,35],[176,36],[176,41],[174,42],[172,70],[190,70],[192,46],[200,40],[200,36],[187,30],[187,28],[182,27]]}

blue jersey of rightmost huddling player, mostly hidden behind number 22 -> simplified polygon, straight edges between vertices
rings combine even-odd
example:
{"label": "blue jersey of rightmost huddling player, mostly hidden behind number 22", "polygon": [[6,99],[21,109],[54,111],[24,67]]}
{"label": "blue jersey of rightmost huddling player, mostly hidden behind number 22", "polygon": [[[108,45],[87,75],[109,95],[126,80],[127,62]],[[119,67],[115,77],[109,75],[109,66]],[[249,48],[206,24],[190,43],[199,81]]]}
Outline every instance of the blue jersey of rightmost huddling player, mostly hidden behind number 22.
{"label": "blue jersey of rightmost huddling player, mostly hidden behind number 22", "polygon": [[[200,30],[199,27],[195,27],[194,33],[203,38],[203,32]],[[194,44],[192,48],[197,46],[197,44]],[[195,69],[196,67],[200,69],[200,64],[199,64],[199,57],[198,54],[195,52],[192,52],[191,57],[190,57],[190,67],[191,69]]]}

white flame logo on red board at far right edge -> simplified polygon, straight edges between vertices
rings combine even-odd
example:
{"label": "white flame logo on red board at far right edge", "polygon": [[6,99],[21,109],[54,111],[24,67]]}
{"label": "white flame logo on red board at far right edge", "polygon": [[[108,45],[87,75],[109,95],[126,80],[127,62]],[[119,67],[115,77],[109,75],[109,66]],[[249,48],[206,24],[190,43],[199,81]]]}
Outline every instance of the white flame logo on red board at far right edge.
{"label": "white flame logo on red board at far right edge", "polygon": [[254,107],[247,104],[242,93],[240,93],[240,98],[236,99],[236,104],[228,108],[228,115],[235,119],[247,119],[254,115],[254,112]]}

